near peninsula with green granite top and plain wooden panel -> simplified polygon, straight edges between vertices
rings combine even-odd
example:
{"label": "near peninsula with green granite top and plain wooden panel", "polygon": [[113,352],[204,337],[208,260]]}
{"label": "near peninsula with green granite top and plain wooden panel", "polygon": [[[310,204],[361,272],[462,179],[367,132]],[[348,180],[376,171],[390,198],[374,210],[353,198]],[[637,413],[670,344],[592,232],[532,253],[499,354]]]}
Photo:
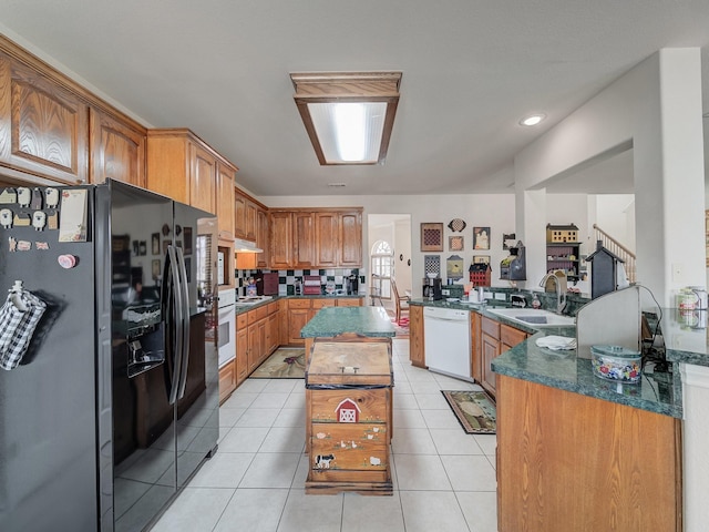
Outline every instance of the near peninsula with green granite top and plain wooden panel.
{"label": "near peninsula with green granite top and plain wooden panel", "polygon": [[574,329],[536,332],[492,362],[499,530],[681,531],[679,371],[606,381],[574,350],[538,347],[547,334]]}

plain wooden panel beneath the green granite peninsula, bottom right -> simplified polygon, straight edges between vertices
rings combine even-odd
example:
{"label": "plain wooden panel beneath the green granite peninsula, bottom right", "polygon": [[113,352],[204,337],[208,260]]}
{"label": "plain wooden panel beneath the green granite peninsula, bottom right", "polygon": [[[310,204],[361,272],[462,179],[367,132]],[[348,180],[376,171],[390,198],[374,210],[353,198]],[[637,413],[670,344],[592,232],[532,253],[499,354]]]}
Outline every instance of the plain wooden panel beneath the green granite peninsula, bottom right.
{"label": "plain wooden panel beneath the green granite peninsula, bottom right", "polygon": [[682,530],[681,420],[497,376],[497,530]]}

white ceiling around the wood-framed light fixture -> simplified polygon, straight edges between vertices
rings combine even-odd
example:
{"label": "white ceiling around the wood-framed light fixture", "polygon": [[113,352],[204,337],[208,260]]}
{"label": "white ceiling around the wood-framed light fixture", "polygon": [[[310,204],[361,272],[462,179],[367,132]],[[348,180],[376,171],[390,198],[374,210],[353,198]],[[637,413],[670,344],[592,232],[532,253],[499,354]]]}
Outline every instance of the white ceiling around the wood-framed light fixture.
{"label": "white ceiling around the wood-framed light fixture", "polygon": [[[703,0],[0,0],[0,31],[146,125],[192,129],[257,196],[510,192],[516,152],[661,48],[702,48],[709,110]],[[320,166],[288,74],[359,70],[403,72],[387,162]],[[548,117],[517,125],[530,112]],[[630,192],[628,160],[602,166],[606,192]],[[549,192],[606,181],[582,173]]]}

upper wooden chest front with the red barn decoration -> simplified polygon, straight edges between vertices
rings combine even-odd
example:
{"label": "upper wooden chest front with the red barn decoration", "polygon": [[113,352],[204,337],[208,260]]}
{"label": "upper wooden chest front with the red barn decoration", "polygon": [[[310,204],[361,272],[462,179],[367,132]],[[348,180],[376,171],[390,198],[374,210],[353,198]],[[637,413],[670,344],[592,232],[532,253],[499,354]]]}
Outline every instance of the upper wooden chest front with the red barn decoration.
{"label": "upper wooden chest front with the red barn decoration", "polygon": [[[356,405],[356,408],[348,409],[360,423],[379,422],[384,423],[389,416],[389,403],[391,401],[389,388],[376,390],[307,390],[310,396],[308,421],[329,422],[338,424],[339,416],[348,416],[341,410],[348,407],[348,399]],[[356,411],[353,411],[356,410]]]}

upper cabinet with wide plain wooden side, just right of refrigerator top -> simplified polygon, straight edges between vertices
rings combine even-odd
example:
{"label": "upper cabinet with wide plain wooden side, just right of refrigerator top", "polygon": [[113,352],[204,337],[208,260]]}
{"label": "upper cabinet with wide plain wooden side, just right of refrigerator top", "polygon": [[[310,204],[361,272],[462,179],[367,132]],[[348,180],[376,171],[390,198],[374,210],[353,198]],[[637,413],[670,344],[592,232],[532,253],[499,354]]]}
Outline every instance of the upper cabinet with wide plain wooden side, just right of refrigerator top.
{"label": "upper cabinet with wide plain wooden side, just right of refrigerator top", "polygon": [[186,129],[148,130],[147,187],[216,213],[217,162],[232,165]]}

